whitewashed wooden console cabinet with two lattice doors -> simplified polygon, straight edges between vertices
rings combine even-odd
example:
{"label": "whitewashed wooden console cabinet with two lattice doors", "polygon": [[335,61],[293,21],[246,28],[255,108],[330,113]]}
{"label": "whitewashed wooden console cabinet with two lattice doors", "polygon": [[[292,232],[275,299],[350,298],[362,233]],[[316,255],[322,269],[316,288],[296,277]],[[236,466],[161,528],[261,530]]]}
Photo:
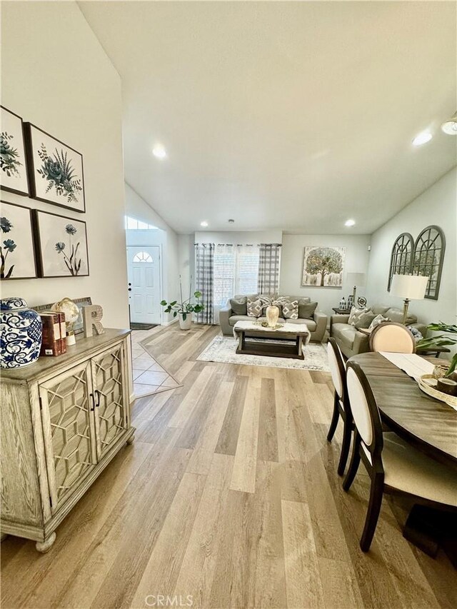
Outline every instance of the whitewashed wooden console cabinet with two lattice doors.
{"label": "whitewashed wooden console cabinet with two lattice doors", "polygon": [[128,330],[80,338],[58,358],[1,371],[1,533],[55,530],[135,429]]}

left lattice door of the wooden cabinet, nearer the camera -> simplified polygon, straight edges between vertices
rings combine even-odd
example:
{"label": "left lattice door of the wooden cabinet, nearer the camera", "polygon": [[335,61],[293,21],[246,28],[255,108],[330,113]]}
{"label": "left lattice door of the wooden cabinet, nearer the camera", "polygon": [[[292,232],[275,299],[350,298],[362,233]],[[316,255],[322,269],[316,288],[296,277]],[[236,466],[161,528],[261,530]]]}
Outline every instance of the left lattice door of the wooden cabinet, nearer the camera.
{"label": "left lattice door of the wooden cabinet, nearer the camera", "polygon": [[97,462],[90,361],[41,383],[39,396],[54,513]]}

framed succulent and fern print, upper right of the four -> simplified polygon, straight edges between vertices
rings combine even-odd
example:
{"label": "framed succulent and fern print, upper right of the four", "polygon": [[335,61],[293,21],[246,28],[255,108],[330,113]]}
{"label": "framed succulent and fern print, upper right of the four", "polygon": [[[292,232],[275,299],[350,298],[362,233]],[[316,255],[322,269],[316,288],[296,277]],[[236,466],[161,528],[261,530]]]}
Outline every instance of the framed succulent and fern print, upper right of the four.
{"label": "framed succulent and fern print, upper right of the four", "polygon": [[24,133],[31,197],[84,213],[82,154],[31,123]]}

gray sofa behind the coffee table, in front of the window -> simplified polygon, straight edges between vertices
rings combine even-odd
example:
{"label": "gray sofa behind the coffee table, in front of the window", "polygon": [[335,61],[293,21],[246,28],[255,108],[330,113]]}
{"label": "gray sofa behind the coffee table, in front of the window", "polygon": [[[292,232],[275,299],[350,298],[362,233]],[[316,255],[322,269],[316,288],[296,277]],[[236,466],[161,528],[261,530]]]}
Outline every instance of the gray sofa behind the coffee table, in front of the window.
{"label": "gray sofa behind the coffee table, in front of the window", "polygon": [[[240,300],[241,298],[247,297],[256,299],[258,298],[258,294],[235,294],[235,296],[233,296],[232,298]],[[326,314],[321,313],[321,311],[314,311],[312,317],[300,317],[300,306],[302,305],[302,308],[304,308],[303,305],[311,303],[311,298],[303,298],[303,296],[288,296],[287,298],[298,301],[298,319],[284,320],[280,317],[278,319],[278,322],[284,323],[284,321],[287,321],[287,323],[306,323],[306,326],[308,326],[308,330],[311,334],[311,341],[320,343],[327,328]],[[221,330],[223,334],[233,335],[233,326],[236,324],[237,321],[253,321],[255,319],[266,321],[266,317],[255,318],[248,316],[247,314],[236,315],[231,309],[230,300],[231,299],[229,299],[229,301],[227,301],[226,306],[224,308],[221,308],[221,310],[219,311],[219,323],[221,324]]]}

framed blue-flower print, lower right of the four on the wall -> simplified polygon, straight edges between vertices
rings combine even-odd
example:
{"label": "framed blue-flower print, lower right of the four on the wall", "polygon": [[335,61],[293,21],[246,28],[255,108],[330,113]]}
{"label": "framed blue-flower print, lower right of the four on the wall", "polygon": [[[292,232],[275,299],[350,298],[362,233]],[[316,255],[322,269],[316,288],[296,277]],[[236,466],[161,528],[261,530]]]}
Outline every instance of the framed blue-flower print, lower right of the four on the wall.
{"label": "framed blue-flower print, lower right of the four on the wall", "polygon": [[35,209],[34,231],[40,277],[89,275],[85,222]]}

